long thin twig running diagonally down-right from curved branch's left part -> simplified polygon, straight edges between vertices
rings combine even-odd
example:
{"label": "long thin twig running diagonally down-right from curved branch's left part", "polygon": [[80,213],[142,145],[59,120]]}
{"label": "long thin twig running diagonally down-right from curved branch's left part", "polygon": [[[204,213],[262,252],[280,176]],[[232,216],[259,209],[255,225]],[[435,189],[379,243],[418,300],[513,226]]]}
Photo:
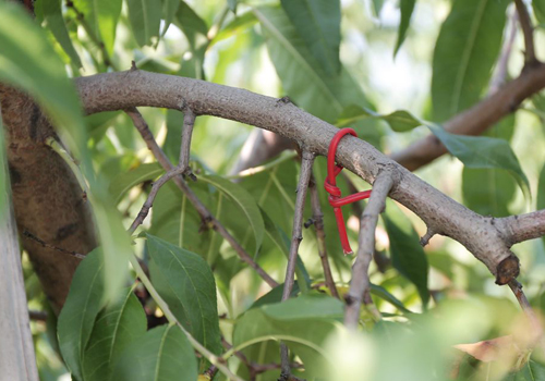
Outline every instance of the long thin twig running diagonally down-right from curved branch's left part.
{"label": "long thin twig running diagonally down-right from curved branch's left part", "polygon": [[[138,112],[138,110],[136,110],[136,108],[131,108],[125,110],[125,113],[131,118],[131,120],[134,123],[134,126],[140,132],[148,149],[152,151],[152,153],[155,156],[155,158],[161,164],[161,167],[166,171],[172,171],[174,169],[174,165],[172,165],[170,160],[167,158],[167,155],[165,155],[162,149],[155,140],[154,135],[149,131],[146,121],[144,120],[144,118],[142,118],[142,114]],[[247,254],[246,250],[244,250],[244,248],[237,242],[237,239],[234,239],[234,237],[227,231],[227,229],[218,220],[214,218],[214,216],[201,201],[197,195],[195,195],[195,193],[183,181],[183,177],[179,175],[174,176],[172,180],[178,185],[178,187],[183,192],[185,197],[187,197],[187,199],[193,205],[195,210],[198,212],[203,221],[207,224],[210,224],[231,245],[231,247],[237,251],[241,260],[246,262],[252,269],[254,269],[270,287],[272,288],[276,287],[278,285],[278,282],[276,282],[272,278],[270,278],[270,275],[267,274],[267,272],[265,272],[265,270],[263,270],[263,268],[253,260],[250,254]]]}

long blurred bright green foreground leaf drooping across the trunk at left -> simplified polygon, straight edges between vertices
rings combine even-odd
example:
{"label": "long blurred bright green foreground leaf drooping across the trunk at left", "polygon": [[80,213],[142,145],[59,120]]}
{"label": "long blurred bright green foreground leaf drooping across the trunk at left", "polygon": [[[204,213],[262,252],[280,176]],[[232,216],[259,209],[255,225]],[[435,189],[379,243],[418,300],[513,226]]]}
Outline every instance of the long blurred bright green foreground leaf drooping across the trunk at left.
{"label": "long blurred bright green foreground leaf drooping across the trunk at left", "polygon": [[105,292],[112,297],[126,280],[126,259],[132,248],[106,187],[95,177],[80,98],[43,30],[11,2],[0,2],[0,81],[24,89],[38,101],[58,128],[63,144],[81,163],[90,187],[87,195],[93,204],[100,243],[104,253],[108,253],[105,256]]}

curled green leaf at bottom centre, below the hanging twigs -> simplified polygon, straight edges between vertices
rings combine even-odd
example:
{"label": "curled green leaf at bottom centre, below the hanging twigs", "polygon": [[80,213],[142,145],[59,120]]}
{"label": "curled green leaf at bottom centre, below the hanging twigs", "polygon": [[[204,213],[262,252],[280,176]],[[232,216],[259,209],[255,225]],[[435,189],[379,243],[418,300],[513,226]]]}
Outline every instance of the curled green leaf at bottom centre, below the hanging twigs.
{"label": "curled green leaf at bottom centre, below the hanging twigs", "polygon": [[304,376],[312,379],[320,374],[328,360],[322,345],[339,324],[342,314],[340,300],[311,294],[253,308],[238,319],[233,345],[240,349],[281,340],[303,360]]}

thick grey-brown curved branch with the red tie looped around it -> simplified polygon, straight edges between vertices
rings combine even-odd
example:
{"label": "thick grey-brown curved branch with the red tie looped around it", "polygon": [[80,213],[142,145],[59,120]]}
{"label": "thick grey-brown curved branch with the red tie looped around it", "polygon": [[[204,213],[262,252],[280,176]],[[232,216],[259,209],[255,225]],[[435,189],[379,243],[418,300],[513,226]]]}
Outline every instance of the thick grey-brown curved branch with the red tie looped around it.
{"label": "thick grey-brown curved branch with the red tie looped around it", "polygon": [[[86,113],[136,106],[181,111],[189,107],[196,115],[214,115],[272,131],[324,156],[338,131],[292,103],[278,106],[276,98],[204,81],[135,70],[81,77],[75,83]],[[540,84],[545,84],[545,65],[528,71],[513,83],[506,86],[512,89],[511,95],[500,90],[483,102],[488,120],[498,118],[494,113],[498,109],[507,113],[508,105],[513,99],[520,102],[529,89],[541,88]],[[519,274],[519,260],[509,250],[494,219],[469,210],[359,138],[342,139],[337,161],[371,184],[382,170],[389,169],[399,180],[390,193],[392,199],[415,212],[437,234],[465,246],[496,275],[496,283],[506,284]]]}

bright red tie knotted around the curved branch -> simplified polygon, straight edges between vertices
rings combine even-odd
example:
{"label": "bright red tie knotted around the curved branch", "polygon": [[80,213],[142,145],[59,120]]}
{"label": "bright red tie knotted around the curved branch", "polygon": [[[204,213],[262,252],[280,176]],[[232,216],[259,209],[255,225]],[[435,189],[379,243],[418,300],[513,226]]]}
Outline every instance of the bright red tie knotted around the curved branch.
{"label": "bright red tie knotted around the curved branch", "polygon": [[339,236],[344,255],[349,255],[354,251],[352,251],[350,243],[348,242],[344,218],[342,217],[342,211],[340,208],[343,205],[352,204],[371,196],[371,190],[364,190],[341,198],[341,192],[337,186],[337,176],[342,171],[343,167],[340,164],[335,164],[335,153],[337,152],[337,146],[339,145],[340,139],[348,134],[358,137],[358,134],[352,128],[342,128],[339,130],[337,134],[335,134],[331,143],[329,144],[329,150],[327,152],[327,177],[324,183],[324,187],[329,194],[329,204],[331,205],[331,207],[334,207],[335,219],[337,220],[337,228],[339,229]]}

